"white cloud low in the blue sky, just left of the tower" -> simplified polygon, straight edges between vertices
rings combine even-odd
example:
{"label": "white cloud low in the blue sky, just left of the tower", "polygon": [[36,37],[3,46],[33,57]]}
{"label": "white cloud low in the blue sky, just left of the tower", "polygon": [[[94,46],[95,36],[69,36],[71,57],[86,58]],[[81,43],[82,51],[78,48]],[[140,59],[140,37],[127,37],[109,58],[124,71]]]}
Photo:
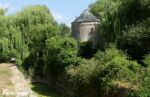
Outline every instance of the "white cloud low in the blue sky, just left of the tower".
{"label": "white cloud low in the blue sky, just left of the tower", "polygon": [[68,20],[67,16],[56,11],[52,11],[52,15],[58,23],[65,23],[66,25],[70,26],[70,21]]}

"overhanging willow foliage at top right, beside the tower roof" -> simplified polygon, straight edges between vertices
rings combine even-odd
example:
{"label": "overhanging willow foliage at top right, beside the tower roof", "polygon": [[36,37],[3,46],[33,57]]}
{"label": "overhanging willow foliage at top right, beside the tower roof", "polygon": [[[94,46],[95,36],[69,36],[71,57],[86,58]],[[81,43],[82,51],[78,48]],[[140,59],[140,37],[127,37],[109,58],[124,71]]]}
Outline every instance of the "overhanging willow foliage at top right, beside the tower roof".
{"label": "overhanging willow foliage at top right, beside the tower roof", "polygon": [[102,22],[106,42],[116,42],[127,25],[150,17],[148,0],[97,0],[91,11]]}

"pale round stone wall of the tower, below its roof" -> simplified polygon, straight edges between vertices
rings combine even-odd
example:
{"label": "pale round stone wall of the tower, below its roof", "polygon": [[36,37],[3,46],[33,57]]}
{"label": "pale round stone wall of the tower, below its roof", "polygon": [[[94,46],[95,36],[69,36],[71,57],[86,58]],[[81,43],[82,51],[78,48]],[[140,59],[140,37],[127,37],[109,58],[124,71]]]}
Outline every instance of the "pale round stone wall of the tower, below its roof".
{"label": "pale round stone wall of the tower, below its roof", "polygon": [[[93,48],[104,46],[104,37],[97,32],[100,22],[75,22],[72,23],[72,36],[80,41],[91,41]],[[99,26],[100,27],[100,26]]]}

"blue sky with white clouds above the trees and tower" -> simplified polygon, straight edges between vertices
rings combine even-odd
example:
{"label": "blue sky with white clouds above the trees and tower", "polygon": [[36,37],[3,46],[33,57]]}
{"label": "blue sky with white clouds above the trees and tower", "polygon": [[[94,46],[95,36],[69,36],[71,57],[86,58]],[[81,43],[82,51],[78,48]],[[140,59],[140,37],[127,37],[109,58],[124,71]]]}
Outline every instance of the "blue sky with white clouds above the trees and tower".
{"label": "blue sky with white clouds above the trees and tower", "polygon": [[8,8],[8,13],[15,13],[29,5],[46,5],[58,23],[68,26],[88,6],[96,0],[0,0],[0,7]]}

